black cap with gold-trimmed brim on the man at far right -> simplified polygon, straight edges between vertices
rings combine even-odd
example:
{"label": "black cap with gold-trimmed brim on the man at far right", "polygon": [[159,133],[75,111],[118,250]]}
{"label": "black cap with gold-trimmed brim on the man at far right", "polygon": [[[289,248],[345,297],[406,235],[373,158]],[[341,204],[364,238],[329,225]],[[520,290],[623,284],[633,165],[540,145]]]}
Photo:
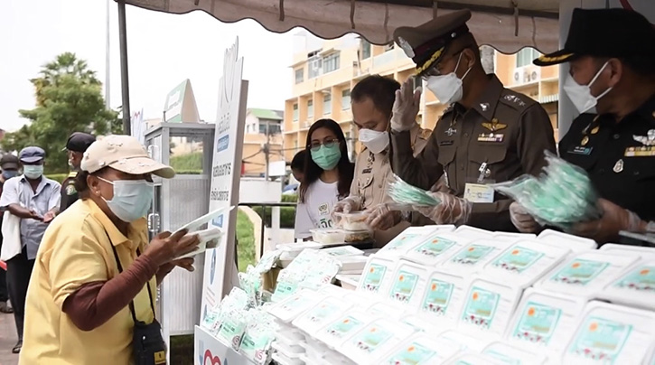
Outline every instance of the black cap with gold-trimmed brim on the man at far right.
{"label": "black cap with gold-trimmed brim on the man at far right", "polygon": [[550,66],[582,56],[646,57],[655,63],[655,28],[632,10],[575,8],[564,49],[545,54],[534,64]]}

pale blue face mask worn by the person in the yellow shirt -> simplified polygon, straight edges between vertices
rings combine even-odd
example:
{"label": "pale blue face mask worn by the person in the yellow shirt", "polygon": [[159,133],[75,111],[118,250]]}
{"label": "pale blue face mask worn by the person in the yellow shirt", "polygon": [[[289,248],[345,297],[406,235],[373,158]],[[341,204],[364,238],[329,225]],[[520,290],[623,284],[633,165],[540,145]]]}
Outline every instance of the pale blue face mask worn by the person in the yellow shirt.
{"label": "pale blue face mask worn by the person in the yellow shirt", "polygon": [[111,201],[102,198],[119,220],[131,223],[145,217],[153,203],[153,182],[145,180],[117,180],[110,182],[101,177],[98,179],[114,185],[114,197]]}

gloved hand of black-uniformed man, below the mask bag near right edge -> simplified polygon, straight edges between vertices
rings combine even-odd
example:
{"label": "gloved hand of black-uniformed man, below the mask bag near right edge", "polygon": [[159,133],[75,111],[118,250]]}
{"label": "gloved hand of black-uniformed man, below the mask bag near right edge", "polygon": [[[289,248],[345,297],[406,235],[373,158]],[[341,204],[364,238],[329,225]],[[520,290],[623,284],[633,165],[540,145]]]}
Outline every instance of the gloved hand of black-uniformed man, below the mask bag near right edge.
{"label": "gloved hand of black-uniformed man, below the mask bag near right edge", "polygon": [[571,228],[571,233],[594,239],[598,243],[606,243],[618,239],[619,232],[622,230],[632,232],[643,230],[645,222],[634,212],[604,199],[598,200],[598,207],[603,211],[600,220],[576,223]]}

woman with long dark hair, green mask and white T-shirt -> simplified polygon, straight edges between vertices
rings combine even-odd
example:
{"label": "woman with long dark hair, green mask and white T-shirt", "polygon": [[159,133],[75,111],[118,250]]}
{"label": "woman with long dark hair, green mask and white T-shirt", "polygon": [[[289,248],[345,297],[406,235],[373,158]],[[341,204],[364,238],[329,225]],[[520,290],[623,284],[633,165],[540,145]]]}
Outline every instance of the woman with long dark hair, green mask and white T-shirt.
{"label": "woman with long dark hair, green mask and white T-shirt", "polygon": [[354,164],[348,159],[342,127],[332,119],[320,119],[307,133],[305,147],[311,158],[305,159],[295,210],[295,238],[312,236],[309,229],[332,227],[330,213],[334,204],[351,190]]}

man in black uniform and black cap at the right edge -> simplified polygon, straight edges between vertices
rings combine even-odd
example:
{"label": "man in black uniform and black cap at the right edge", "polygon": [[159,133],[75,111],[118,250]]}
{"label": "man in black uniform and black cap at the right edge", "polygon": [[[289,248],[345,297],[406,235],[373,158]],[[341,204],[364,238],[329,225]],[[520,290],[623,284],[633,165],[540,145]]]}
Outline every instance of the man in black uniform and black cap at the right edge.
{"label": "man in black uniform and black cap at the right edge", "polygon": [[[559,155],[585,169],[604,211],[573,233],[604,243],[621,230],[655,231],[655,28],[634,11],[575,9],[564,49],[534,63],[562,62],[563,89],[581,115]],[[540,229],[518,203],[510,210],[519,230]]]}

